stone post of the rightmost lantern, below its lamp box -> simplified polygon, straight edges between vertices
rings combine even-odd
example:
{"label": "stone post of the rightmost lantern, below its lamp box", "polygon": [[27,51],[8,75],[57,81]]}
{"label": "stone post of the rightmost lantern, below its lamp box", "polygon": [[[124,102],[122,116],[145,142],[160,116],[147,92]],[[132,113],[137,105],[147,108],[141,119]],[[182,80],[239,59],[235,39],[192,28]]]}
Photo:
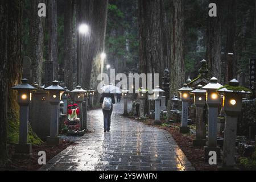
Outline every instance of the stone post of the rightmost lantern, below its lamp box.
{"label": "stone post of the rightmost lantern, below its lamp box", "polygon": [[223,166],[233,167],[236,162],[236,137],[237,137],[237,117],[226,115],[225,120],[225,139],[223,146]]}

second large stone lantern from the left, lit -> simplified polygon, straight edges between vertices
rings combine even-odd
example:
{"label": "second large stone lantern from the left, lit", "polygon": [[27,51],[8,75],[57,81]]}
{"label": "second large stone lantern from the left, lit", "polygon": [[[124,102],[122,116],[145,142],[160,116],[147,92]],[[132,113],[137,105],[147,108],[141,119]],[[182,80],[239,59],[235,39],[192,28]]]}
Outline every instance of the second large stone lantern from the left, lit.
{"label": "second large stone lantern from the left, lit", "polygon": [[58,81],[53,81],[51,86],[44,90],[48,91],[49,103],[51,104],[51,122],[50,122],[50,136],[47,137],[47,144],[55,145],[60,144],[59,133],[59,116],[60,116],[60,98],[65,92],[65,89],[59,86]]}

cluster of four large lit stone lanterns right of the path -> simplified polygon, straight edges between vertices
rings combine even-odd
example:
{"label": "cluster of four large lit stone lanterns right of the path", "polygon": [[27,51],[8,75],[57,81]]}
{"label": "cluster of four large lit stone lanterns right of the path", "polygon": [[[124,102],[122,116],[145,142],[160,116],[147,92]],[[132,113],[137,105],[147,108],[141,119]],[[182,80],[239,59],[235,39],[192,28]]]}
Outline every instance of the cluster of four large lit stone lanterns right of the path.
{"label": "cluster of four large lit stone lanterns right of the path", "polygon": [[[231,89],[230,89],[231,88]],[[221,94],[224,94],[222,106],[225,111],[225,133],[224,133],[224,159],[222,166],[232,168],[235,165],[234,152],[236,148],[237,117],[242,110],[242,94],[249,94],[246,88],[239,87],[236,79],[229,81],[229,85],[222,86],[217,78],[210,79],[210,83],[202,86],[198,85],[193,90],[184,84],[179,89],[182,100],[182,121],[180,132],[189,133],[187,126],[189,94],[194,95],[193,102],[196,105],[196,139],[193,140],[194,146],[205,146],[206,126],[204,119],[204,106],[208,106],[208,142],[204,147],[205,159],[209,159],[209,152],[215,151],[220,158],[220,148],[217,146],[217,117],[218,109],[221,106]]]}

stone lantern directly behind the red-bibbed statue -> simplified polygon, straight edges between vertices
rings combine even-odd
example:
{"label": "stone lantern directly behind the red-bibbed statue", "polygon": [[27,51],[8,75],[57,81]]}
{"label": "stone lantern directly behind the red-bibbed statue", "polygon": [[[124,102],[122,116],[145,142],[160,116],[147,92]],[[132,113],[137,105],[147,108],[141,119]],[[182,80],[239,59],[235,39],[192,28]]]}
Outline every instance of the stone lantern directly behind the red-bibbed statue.
{"label": "stone lantern directly behind the red-bibbed statue", "polygon": [[[87,93],[86,90],[82,89],[81,86],[77,85],[76,89],[71,91],[73,93],[74,102],[79,106],[80,108],[80,114],[77,116],[80,118],[80,121],[82,121],[82,127],[84,127],[85,122],[83,119],[83,108],[82,108],[82,102],[84,102],[84,94]],[[87,109],[87,108],[86,108]]]}

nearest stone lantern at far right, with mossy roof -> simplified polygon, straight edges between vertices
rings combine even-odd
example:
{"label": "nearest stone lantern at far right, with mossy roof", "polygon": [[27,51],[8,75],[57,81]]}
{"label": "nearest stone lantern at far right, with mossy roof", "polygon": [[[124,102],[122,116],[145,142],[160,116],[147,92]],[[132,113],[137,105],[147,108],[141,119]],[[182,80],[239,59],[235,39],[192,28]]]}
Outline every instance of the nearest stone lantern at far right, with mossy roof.
{"label": "nearest stone lantern at far right, with mossy roof", "polygon": [[218,89],[219,93],[224,93],[223,108],[226,114],[223,147],[223,168],[233,168],[236,165],[236,135],[237,118],[242,111],[242,95],[250,94],[250,90],[239,86],[236,79],[229,81],[229,85]]}

